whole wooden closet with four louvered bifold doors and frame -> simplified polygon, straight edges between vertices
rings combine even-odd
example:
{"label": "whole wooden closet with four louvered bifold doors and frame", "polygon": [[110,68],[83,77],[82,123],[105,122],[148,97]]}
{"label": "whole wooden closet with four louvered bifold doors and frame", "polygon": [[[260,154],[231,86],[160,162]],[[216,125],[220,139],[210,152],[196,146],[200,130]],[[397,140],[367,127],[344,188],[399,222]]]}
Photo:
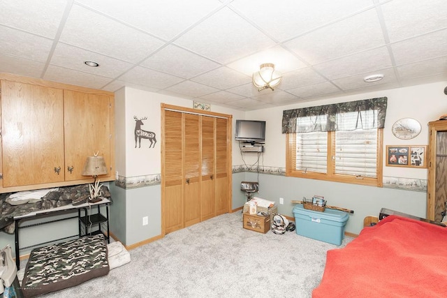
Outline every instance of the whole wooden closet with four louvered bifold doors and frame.
{"label": "whole wooden closet with four louvered bifold doors and frame", "polygon": [[161,105],[164,234],[230,211],[231,116]]}

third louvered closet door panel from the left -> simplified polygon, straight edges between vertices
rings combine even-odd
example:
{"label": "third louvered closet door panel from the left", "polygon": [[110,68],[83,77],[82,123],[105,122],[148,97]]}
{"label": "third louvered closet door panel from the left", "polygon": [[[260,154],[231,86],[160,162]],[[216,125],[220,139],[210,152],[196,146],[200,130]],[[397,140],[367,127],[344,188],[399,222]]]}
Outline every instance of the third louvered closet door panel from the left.
{"label": "third louvered closet door panel from the left", "polygon": [[214,203],[214,118],[201,117],[201,183],[200,200],[202,205],[201,220],[206,221],[215,216]]}

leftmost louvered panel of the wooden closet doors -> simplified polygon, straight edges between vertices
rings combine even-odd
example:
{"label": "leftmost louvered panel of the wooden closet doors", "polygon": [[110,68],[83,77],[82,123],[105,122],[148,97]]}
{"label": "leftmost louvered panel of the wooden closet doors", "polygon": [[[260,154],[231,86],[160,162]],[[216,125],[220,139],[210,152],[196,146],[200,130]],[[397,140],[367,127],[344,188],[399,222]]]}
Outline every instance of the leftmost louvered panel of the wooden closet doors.
{"label": "leftmost louvered panel of the wooden closet doors", "polygon": [[165,111],[163,142],[163,223],[170,233],[184,227],[182,113]]}

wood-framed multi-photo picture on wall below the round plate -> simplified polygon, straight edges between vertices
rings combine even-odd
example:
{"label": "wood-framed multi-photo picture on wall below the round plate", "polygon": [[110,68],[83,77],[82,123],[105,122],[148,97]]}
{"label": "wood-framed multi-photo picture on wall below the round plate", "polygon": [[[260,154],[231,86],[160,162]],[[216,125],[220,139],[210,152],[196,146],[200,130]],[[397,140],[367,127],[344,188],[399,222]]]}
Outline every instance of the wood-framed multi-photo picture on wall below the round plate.
{"label": "wood-framed multi-photo picture on wall below the round plate", "polygon": [[386,165],[396,167],[427,167],[425,145],[405,145],[386,147]]}

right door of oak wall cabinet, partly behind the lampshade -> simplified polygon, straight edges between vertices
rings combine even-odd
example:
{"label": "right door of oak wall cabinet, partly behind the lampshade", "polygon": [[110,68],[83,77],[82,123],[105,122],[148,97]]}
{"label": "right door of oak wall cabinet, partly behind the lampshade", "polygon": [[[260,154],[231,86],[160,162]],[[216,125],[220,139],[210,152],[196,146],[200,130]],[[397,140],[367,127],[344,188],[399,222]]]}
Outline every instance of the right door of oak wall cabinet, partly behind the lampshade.
{"label": "right door of oak wall cabinet, partly behind the lampshade", "polygon": [[108,167],[108,174],[98,179],[112,176],[110,100],[110,96],[64,90],[66,181],[86,179],[82,176],[85,160],[96,153],[104,156]]}

